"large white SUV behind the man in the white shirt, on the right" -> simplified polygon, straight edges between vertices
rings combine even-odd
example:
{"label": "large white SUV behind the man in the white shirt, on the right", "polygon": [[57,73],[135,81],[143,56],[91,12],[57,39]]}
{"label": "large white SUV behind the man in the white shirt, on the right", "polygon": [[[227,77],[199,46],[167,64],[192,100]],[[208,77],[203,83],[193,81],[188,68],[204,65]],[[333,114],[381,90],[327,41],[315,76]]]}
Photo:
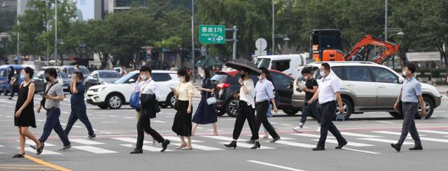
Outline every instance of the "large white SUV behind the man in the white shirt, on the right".
{"label": "large white SUV behind the man in the white shirt, on the right", "polygon": [[[320,79],[318,68],[322,62],[311,63],[299,68],[311,68],[311,73]],[[351,114],[361,114],[363,112],[389,112],[395,118],[402,115],[393,110],[393,104],[398,98],[401,84],[404,78],[387,66],[364,61],[343,61],[328,62],[331,66],[331,74],[337,75],[342,80],[341,96],[342,104],[346,112],[346,118]],[[300,91],[299,84],[302,82],[302,75],[297,77],[293,83],[293,107],[302,107],[304,104],[304,92]],[[421,84],[425,110],[428,113],[426,118],[433,114],[435,107],[441,103],[442,95],[435,87],[429,84]],[[420,109],[419,109],[420,110]],[[312,116],[311,114],[311,117]],[[416,118],[421,118],[421,114],[416,114]]]}

